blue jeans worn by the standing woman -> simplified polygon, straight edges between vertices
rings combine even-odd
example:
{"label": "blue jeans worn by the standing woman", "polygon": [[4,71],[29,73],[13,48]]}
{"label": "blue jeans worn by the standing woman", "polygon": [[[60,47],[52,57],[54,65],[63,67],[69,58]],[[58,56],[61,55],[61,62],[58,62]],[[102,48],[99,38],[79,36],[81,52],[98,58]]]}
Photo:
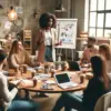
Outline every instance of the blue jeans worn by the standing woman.
{"label": "blue jeans worn by the standing woman", "polygon": [[47,62],[52,62],[53,61],[53,59],[52,59],[52,47],[51,46],[50,47],[46,46],[44,60]]}

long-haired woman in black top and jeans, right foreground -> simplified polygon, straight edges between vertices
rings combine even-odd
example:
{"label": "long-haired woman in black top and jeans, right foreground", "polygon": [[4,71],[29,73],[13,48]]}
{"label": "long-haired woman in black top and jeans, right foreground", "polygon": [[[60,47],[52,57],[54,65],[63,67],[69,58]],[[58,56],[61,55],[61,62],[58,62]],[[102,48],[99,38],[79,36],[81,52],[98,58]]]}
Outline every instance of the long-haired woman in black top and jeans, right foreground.
{"label": "long-haired woman in black top and jeans, right foreground", "polygon": [[109,91],[109,78],[103,57],[94,56],[91,58],[93,78],[89,80],[83,95],[73,93],[62,93],[52,111],[60,111],[63,107],[65,111],[75,109],[78,111],[94,111],[98,99]]}

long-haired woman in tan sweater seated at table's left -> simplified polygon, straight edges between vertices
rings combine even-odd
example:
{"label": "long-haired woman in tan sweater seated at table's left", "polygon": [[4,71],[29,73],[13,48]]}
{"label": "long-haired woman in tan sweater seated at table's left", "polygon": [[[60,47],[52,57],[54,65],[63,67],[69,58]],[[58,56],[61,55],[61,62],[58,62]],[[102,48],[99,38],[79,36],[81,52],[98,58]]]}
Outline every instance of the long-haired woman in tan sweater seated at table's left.
{"label": "long-haired woman in tan sweater seated at table's left", "polygon": [[28,52],[23,49],[21,41],[14,40],[12,42],[11,51],[9,53],[8,63],[10,69],[19,68],[21,65],[36,65],[37,63],[32,62]]}

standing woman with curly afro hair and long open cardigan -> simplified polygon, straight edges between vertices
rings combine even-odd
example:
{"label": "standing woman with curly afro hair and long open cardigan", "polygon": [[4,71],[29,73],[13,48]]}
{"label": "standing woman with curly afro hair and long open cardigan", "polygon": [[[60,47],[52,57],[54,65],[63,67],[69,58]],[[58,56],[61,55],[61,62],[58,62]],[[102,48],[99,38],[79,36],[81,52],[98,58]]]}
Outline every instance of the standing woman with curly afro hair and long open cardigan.
{"label": "standing woman with curly afro hair and long open cardigan", "polygon": [[51,13],[43,13],[39,19],[40,29],[37,36],[38,62],[52,62],[56,60],[57,31],[52,28],[53,22],[56,21],[53,21]]}

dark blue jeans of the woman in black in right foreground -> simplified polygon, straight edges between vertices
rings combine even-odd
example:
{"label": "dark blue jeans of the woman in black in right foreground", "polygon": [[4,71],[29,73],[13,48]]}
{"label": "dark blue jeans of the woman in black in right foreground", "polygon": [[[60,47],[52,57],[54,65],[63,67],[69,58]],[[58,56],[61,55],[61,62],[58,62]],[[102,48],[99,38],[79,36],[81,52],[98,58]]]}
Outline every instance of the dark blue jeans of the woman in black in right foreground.
{"label": "dark blue jeans of the woman in black in right foreground", "polygon": [[64,107],[64,111],[71,111],[71,109],[80,110],[82,104],[82,95],[73,93],[62,93],[58,99],[52,111],[60,111]]}

